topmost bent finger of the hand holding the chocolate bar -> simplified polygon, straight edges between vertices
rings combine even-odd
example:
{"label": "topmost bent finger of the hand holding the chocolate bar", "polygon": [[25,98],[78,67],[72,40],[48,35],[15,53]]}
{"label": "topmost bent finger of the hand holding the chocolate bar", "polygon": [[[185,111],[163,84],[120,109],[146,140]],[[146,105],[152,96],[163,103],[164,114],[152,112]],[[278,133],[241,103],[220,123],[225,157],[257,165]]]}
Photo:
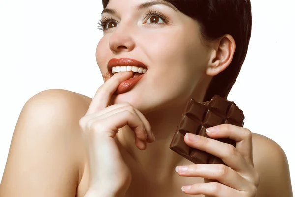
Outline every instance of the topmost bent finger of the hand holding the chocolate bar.
{"label": "topmost bent finger of the hand holding the chocolate bar", "polygon": [[[252,152],[252,132],[243,127],[231,124],[222,124],[207,129],[207,134],[211,138],[230,138],[236,141],[236,150],[246,159],[248,164],[253,164]],[[215,131],[215,132],[213,132]]]}

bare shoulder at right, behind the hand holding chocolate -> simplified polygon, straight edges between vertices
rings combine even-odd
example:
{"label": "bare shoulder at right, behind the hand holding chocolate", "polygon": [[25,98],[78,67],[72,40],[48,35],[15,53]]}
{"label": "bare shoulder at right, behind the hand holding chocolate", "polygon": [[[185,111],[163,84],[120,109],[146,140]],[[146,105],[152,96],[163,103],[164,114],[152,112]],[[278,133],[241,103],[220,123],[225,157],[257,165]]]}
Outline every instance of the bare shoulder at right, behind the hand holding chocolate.
{"label": "bare shoulder at right, behind the hand holding chocolate", "polygon": [[252,133],[254,167],[260,175],[257,197],[292,197],[284,150],[272,139]]}

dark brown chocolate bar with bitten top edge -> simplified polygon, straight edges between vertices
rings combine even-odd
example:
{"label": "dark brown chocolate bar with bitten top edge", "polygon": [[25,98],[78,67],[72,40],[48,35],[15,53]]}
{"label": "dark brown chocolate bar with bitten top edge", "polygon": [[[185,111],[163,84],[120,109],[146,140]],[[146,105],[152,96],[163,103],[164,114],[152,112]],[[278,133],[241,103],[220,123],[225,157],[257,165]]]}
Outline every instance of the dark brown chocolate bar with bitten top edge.
{"label": "dark brown chocolate bar with bitten top edge", "polygon": [[[244,118],[243,111],[234,102],[230,102],[219,95],[215,95],[210,101],[203,103],[191,99],[182,114],[170,149],[195,164],[224,164],[220,158],[188,146],[184,142],[184,135],[189,132],[209,138],[206,132],[207,128],[220,124],[233,124],[243,127]],[[216,140],[236,147],[236,142],[229,138]]]}

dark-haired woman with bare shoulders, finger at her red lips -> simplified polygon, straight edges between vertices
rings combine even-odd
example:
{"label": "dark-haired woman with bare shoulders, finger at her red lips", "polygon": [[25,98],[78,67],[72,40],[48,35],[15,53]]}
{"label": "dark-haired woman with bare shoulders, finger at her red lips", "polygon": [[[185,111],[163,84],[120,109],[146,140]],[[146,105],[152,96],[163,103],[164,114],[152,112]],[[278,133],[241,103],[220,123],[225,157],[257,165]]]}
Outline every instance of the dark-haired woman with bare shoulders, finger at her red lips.
{"label": "dark-haired woman with bare shoulders, finger at her red lips", "polygon": [[[193,164],[169,149],[190,98],[227,98],[250,40],[250,1],[103,0],[103,7],[96,59],[105,83],[93,99],[53,89],[27,101],[0,197],[291,197],[284,151],[246,128],[185,136],[229,167]],[[215,140],[224,137],[236,148]]]}

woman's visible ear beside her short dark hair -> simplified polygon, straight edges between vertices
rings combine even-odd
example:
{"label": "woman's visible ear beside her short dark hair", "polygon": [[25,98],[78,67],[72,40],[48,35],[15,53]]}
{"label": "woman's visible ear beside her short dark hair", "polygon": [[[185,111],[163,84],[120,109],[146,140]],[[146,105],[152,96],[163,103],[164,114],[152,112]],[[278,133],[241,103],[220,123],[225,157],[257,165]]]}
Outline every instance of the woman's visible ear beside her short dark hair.
{"label": "woman's visible ear beside her short dark hair", "polygon": [[213,42],[209,62],[207,64],[206,74],[215,76],[225,70],[233,60],[236,50],[234,38],[226,34],[222,38]]}

